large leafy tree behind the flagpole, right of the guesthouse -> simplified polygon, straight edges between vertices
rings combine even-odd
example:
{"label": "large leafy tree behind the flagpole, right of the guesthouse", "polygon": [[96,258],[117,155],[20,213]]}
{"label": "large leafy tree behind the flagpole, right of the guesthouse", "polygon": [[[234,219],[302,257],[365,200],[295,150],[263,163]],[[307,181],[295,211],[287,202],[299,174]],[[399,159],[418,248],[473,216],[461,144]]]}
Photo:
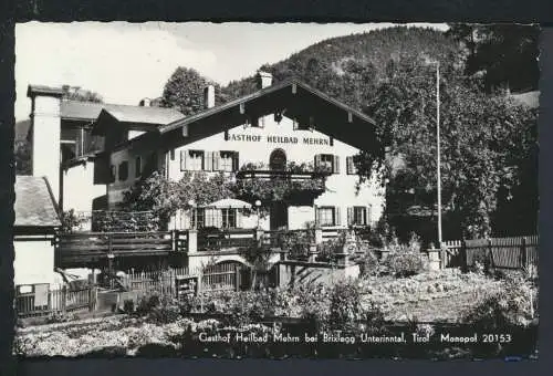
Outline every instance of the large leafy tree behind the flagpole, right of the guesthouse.
{"label": "large leafy tree behind the flagpole, right of the guesthouse", "polygon": [[[382,147],[355,159],[362,179],[380,171],[388,180],[387,202],[418,202],[430,211],[437,196],[435,77],[421,61],[389,70],[366,108]],[[466,236],[486,237],[500,189],[512,191],[528,175],[523,160],[535,144],[535,114],[507,96],[481,93],[451,61],[442,62],[440,93],[442,210]],[[393,159],[401,163],[392,168]]]}

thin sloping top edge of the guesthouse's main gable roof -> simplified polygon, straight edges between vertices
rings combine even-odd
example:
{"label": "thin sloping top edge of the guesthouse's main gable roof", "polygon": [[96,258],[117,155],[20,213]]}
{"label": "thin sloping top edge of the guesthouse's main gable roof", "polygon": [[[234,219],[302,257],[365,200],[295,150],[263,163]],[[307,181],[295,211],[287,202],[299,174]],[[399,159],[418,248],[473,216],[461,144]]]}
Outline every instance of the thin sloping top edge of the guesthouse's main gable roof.
{"label": "thin sloping top edge of the guesthouse's main gable roof", "polygon": [[230,108],[232,108],[232,107],[234,107],[237,105],[240,105],[240,104],[244,104],[246,105],[249,102],[255,101],[255,100],[258,100],[258,98],[260,98],[262,96],[265,96],[268,94],[272,94],[272,93],[285,90],[288,87],[292,87],[293,85],[295,85],[296,87],[302,87],[303,90],[305,90],[306,92],[313,94],[314,96],[316,96],[316,97],[319,97],[319,98],[321,98],[323,101],[326,101],[328,104],[332,104],[332,105],[334,105],[336,107],[341,107],[342,109],[354,114],[355,116],[359,117],[364,122],[371,123],[373,125],[376,124],[374,119],[372,119],[369,116],[365,115],[361,111],[352,108],[352,107],[343,104],[342,102],[338,102],[338,101],[330,97],[328,95],[324,94],[323,92],[321,92],[321,91],[319,91],[319,90],[316,90],[314,87],[311,87],[311,86],[309,86],[307,84],[305,84],[305,83],[303,83],[301,81],[298,81],[296,79],[291,79],[291,80],[285,80],[285,81],[282,81],[282,82],[278,83],[278,84],[274,84],[274,85],[261,88],[261,90],[259,90],[259,91],[257,91],[257,92],[254,92],[252,94],[242,96],[242,97],[240,97],[238,100],[233,100],[233,101],[230,101],[230,102],[225,103],[222,105],[205,109],[205,111],[199,112],[199,113],[197,113],[197,114],[195,114],[192,116],[182,117],[181,119],[178,119],[178,121],[176,121],[176,122],[174,122],[174,123],[171,123],[171,124],[169,124],[167,126],[161,126],[158,129],[159,129],[160,133],[166,133],[166,132],[179,128],[182,125],[191,124],[191,123],[198,122],[200,119],[207,118],[209,116],[219,114],[219,113],[225,112],[227,109],[230,109]]}

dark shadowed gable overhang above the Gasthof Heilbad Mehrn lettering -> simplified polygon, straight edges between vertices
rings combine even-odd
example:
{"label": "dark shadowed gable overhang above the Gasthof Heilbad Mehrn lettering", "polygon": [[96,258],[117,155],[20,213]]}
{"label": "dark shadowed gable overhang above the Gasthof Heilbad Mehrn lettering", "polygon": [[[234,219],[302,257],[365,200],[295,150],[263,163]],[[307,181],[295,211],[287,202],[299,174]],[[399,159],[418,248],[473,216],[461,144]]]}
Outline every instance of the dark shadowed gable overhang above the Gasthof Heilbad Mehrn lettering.
{"label": "dark shadowed gable overhang above the Gasthof Heilbad Mehrn lettering", "polygon": [[275,112],[283,112],[300,124],[313,123],[315,130],[356,148],[375,147],[374,119],[296,80],[284,81],[157,129],[173,140],[195,140]]}

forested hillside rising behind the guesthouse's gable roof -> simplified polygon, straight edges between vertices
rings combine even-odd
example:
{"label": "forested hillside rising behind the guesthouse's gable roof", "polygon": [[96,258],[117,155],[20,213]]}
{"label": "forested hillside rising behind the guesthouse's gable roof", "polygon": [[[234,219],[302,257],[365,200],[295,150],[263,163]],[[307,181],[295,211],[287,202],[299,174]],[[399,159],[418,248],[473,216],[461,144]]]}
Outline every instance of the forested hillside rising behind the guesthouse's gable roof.
{"label": "forested hillside rising behind the guesthouse's gable roof", "polygon": [[[386,76],[390,61],[429,58],[458,66],[465,55],[459,43],[440,31],[397,27],[328,39],[260,69],[272,73],[274,82],[295,76],[363,109]],[[222,91],[230,97],[252,93],[255,91],[254,75],[231,82]]]}

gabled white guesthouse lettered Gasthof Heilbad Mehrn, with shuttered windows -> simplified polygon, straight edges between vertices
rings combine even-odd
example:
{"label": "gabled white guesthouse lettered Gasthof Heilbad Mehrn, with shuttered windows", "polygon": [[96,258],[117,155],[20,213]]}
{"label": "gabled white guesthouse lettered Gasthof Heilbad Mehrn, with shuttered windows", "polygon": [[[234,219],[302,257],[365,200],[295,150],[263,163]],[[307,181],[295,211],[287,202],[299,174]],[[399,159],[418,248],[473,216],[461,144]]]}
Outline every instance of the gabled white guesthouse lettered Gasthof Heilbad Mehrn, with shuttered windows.
{"label": "gabled white guesthouse lettered Gasthof Heilbad Mehrn, with shuttered windows", "polygon": [[[366,226],[382,215],[384,192],[377,181],[358,185],[353,158],[376,147],[374,121],[304,83],[272,84],[258,74],[259,90],[217,105],[215,88],[205,90],[205,109],[192,116],[137,126],[103,109],[93,134],[105,139],[97,155],[97,181],[106,184],[107,208],[117,210],[124,192],[153,171],[179,180],[187,173],[249,179],[322,181],[303,194],[272,202],[262,219],[238,207],[194,207],[171,218],[171,229],[192,227],[302,229],[310,224]],[[156,123],[156,124],[154,124]],[[241,197],[251,206],[254,195]]]}

